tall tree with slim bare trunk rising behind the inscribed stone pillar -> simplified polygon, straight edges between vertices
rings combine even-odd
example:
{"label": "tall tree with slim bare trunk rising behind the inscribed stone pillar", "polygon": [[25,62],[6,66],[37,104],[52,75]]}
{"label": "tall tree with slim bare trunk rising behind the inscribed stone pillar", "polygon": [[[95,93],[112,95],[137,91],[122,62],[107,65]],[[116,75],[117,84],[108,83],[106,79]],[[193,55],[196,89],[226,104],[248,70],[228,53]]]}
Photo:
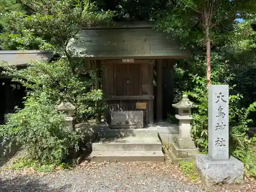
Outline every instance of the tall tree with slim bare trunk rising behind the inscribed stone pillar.
{"label": "tall tree with slim bare trunk rising behind the inscribed stone pillar", "polygon": [[[222,41],[224,30],[231,30],[238,13],[253,12],[254,1],[241,0],[177,0],[169,4],[168,9],[159,13],[162,18],[158,27],[175,32],[181,38],[204,44],[206,49],[207,86],[211,75],[211,45]],[[195,34],[200,29],[201,34]]]}

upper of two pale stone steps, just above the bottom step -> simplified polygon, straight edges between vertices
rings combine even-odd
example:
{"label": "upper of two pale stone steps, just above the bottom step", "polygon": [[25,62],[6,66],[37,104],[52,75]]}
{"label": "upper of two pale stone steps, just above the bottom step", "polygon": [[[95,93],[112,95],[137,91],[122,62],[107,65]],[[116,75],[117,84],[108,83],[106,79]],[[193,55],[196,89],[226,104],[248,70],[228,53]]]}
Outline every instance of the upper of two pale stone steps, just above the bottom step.
{"label": "upper of two pale stone steps, just above the bottom step", "polygon": [[92,145],[94,151],[162,151],[158,137],[130,136],[115,139],[101,139]]}

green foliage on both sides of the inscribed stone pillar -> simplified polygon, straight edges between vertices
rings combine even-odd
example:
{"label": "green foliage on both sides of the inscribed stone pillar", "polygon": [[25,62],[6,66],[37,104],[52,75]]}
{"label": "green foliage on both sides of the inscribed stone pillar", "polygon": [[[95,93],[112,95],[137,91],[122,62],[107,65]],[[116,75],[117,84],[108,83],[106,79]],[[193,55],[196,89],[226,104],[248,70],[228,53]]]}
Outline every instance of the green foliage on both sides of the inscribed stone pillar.
{"label": "green foliage on both sides of the inscribed stone pillar", "polygon": [[[215,76],[216,75],[216,76]],[[221,75],[221,73],[219,74]],[[230,77],[232,78],[232,77]],[[208,151],[208,95],[205,86],[206,78],[197,75],[191,76],[191,80],[195,83],[194,89],[186,92],[199,105],[199,109],[193,114],[193,122],[191,129],[191,136],[194,138],[195,144],[199,147],[201,152]],[[225,82],[215,81],[219,80],[218,74],[213,73],[212,82],[214,84],[226,84]],[[230,87],[232,92],[232,87]],[[255,175],[255,138],[248,138],[248,123],[249,114],[256,112],[256,101],[248,106],[248,108],[241,107],[240,99],[242,95],[229,96],[229,153],[230,155],[239,158],[245,163],[246,173]]]}

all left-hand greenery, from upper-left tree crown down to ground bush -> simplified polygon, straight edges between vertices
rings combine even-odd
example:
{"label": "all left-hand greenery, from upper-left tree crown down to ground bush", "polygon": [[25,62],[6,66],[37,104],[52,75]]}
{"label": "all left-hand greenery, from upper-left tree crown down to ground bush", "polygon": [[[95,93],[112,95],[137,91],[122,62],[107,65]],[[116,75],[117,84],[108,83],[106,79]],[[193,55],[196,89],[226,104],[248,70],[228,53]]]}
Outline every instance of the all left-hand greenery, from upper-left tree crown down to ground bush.
{"label": "all left-hand greenery, from upper-left tree crown down to ground bush", "polygon": [[102,98],[102,91],[94,89],[95,73],[84,70],[84,60],[74,59],[77,53],[66,47],[80,27],[107,22],[113,12],[97,11],[89,1],[1,2],[3,49],[51,50],[57,56],[49,63],[31,62],[22,70],[1,64],[4,74],[15,76],[13,80],[28,90],[25,108],[9,115],[1,127],[2,144],[6,149],[13,143],[21,145],[31,163],[57,165],[67,157],[70,147],[77,150],[81,135],[69,133],[56,105],[73,103],[77,120],[87,121],[100,111],[95,103]]}

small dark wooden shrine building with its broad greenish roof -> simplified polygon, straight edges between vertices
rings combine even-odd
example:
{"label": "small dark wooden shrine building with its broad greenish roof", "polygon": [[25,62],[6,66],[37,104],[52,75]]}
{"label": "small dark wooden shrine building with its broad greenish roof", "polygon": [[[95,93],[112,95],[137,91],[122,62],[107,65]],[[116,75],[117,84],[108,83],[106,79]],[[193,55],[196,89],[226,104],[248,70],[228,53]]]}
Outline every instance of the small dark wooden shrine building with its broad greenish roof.
{"label": "small dark wooden shrine building with its broad greenish roof", "polygon": [[[143,111],[144,127],[166,118],[175,59],[189,56],[172,35],[155,31],[151,22],[115,23],[82,29],[69,46],[83,53],[79,57],[86,57],[102,77],[109,104],[106,122],[111,123],[112,111]],[[99,81],[95,87],[101,87]]]}

